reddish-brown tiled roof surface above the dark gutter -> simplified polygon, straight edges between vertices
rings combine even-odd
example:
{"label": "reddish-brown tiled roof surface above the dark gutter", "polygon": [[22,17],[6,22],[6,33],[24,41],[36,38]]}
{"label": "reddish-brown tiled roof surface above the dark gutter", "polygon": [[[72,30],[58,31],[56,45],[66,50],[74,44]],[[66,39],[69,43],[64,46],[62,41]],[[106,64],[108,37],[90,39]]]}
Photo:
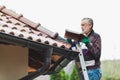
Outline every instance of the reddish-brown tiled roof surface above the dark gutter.
{"label": "reddish-brown tiled roof surface above the dark gutter", "polygon": [[28,20],[21,14],[6,9],[5,6],[0,6],[0,32],[51,46],[70,48],[68,43],[55,40],[57,33]]}

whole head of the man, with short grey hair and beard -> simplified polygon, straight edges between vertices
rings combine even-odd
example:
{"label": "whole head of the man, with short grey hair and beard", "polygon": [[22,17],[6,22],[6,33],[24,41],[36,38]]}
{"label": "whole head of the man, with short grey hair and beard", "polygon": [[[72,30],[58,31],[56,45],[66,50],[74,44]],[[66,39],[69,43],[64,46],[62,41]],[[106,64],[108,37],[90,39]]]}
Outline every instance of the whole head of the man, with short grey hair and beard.
{"label": "whole head of the man, with short grey hair and beard", "polygon": [[86,35],[88,35],[93,28],[93,20],[91,18],[83,18],[81,21],[81,29],[82,32]]}

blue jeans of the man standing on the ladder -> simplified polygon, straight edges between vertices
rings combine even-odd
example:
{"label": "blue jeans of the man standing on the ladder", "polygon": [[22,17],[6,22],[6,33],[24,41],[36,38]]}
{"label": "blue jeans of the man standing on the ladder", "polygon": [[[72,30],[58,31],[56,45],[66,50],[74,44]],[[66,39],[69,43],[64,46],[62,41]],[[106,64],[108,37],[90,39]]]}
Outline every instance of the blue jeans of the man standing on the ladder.
{"label": "blue jeans of the man standing on the ladder", "polygon": [[[100,68],[88,70],[87,72],[88,72],[89,80],[100,80],[102,77]],[[84,80],[84,76],[82,72],[80,73],[79,77],[80,77],[80,80]]]}

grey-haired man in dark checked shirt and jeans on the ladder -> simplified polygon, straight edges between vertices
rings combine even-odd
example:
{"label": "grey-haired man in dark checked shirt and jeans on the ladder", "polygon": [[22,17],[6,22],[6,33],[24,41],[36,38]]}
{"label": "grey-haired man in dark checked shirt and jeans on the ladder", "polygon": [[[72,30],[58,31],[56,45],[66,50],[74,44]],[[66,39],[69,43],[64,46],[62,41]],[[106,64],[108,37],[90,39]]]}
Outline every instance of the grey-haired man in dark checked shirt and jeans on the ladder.
{"label": "grey-haired man in dark checked shirt and jeans on the ladder", "polygon": [[[81,21],[81,29],[83,34],[86,36],[82,38],[83,55],[86,63],[89,80],[100,80],[101,69],[100,69],[100,56],[101,56],[101,38],[100,35],[95,33],[93,30],[93,20],[91,18],[83,18]],[[78,68],[80,80],[84,80],[80,62],[77,59],[76,65]]]}

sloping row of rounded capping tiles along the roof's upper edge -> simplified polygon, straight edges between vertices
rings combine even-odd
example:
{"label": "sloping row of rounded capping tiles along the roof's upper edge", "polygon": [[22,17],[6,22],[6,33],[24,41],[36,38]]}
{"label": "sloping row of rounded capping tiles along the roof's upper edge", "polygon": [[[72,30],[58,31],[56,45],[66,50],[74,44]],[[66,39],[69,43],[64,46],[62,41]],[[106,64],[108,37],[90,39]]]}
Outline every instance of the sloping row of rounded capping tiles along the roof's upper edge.
{"label": "sloping row of rounded capping tiles along the roof's upper edge", "polygon": [[29,25],[30,27],[32,27],[33,29],[36,29],[36,30],[39,30],[40,32],[43,32],[45,33],[46,35],[50,36],[51,38],[55,39],[56,36],[58,36],[58,33],[54,33],[44,27],[41,26],[40,23],[35,23],[27,18],[25,18],[22,14],[17,14],[9,9],[7,9],[5,6],[0,6],[0,11],[9,15],[9,16],[12,16],[13,18]]}

